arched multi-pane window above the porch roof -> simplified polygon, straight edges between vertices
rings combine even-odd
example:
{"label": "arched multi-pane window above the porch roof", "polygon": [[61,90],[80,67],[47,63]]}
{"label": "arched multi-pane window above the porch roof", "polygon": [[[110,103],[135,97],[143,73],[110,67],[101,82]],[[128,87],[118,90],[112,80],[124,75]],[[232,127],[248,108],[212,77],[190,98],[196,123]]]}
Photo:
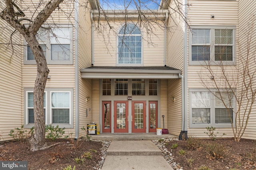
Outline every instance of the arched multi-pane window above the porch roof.
{"label": "arched multi-pane window above the porch roof", "polygon": [[127,23],[118,33],[118,64],[142,64],[140,29]]}

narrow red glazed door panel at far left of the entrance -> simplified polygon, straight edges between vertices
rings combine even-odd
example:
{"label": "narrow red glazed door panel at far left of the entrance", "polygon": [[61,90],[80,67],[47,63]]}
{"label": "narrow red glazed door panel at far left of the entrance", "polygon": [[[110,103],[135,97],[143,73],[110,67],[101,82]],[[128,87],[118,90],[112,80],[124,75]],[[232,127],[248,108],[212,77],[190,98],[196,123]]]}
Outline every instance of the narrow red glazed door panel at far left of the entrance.
{"label": "narrow red glazed door panel at far left of the entrance", "polygon": [[102,102],[102,133],[111,133],[111,102]]}

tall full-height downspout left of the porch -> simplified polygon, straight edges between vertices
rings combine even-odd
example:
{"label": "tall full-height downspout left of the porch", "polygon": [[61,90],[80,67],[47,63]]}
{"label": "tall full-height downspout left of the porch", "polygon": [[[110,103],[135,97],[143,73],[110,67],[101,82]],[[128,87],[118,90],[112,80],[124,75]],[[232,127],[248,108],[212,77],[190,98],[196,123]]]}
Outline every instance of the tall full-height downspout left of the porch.
{"label": "tall full-height downspout left of the porch", "polygon": [[75,0],[75,140],[79,138],[79,60],[78,60],[78,0]]}

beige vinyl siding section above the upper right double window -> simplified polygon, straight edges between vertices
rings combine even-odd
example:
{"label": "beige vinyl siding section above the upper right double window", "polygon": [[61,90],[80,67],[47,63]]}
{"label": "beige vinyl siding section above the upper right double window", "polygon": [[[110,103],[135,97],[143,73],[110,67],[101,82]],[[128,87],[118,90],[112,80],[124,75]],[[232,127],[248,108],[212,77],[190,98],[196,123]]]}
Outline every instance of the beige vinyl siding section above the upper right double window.
{"label": "beige vinyl siding section above the upper right double window", "polygon": [[[238,1],[188,0],[188,19],[191,25],[236,25]],[[214,18],[211,18],[214,15]]]}

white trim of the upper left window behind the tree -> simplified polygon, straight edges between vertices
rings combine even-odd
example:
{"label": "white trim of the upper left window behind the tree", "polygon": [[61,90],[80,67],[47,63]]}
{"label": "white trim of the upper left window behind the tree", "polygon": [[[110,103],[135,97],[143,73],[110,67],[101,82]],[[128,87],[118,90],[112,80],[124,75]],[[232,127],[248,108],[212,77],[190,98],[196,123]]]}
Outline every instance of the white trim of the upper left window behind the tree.
{"label": "white trim of the upper left window behind the tree", "polygon": [[[62,24],[62,25],[56,25],[58,28],[68,28],[70,31],[70,61],[52,61],[51,60],[51,43],[50,43],[50,32],[46,35],[46,62],[47,64],[62,64],[62,65],[72,65],[73,64],[73,27],[69,24]],[[39,44],[42,44],[42,42],[39,42]],[[27,42],[24,39],[23,40],[23,58],[24,58],[24,64],[36,64],[35,60],[27,60]]]}

